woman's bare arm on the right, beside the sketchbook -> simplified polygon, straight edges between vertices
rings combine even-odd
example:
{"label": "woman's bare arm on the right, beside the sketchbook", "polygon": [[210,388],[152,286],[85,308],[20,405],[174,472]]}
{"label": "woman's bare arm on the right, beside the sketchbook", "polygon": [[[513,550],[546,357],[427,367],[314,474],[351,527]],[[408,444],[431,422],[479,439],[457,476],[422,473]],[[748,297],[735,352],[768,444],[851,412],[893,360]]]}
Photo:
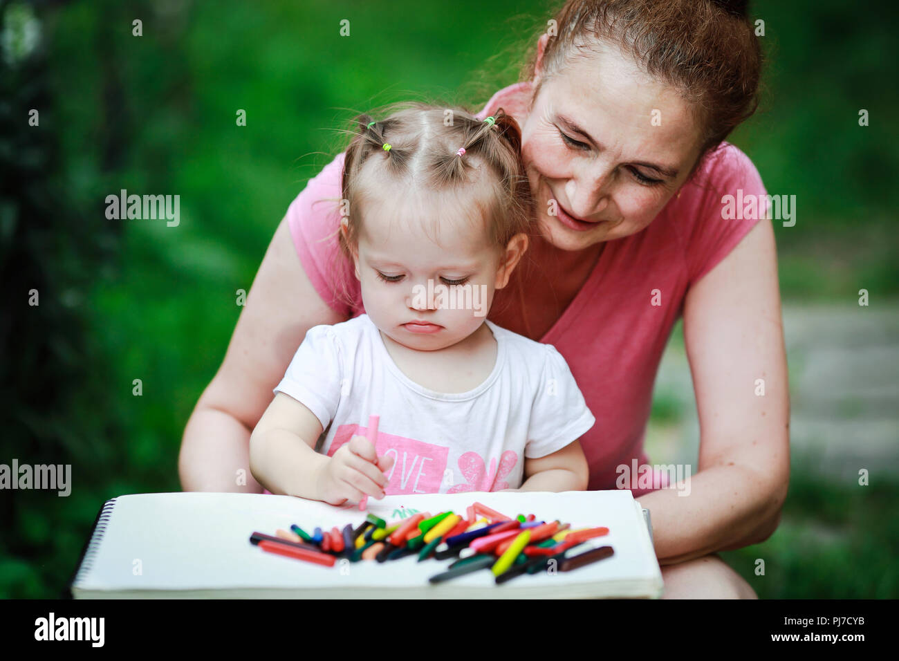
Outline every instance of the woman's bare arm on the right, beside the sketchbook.
{"label": "woman's bare arm on the right, beside the sketchbook", "polygon": [[770,220],[690,288],[683,317],[699,413],[698,472],[688,496],[667,488],[637,499],[652,511],[663,565],[767,539],[787,497],[787,355]]}

